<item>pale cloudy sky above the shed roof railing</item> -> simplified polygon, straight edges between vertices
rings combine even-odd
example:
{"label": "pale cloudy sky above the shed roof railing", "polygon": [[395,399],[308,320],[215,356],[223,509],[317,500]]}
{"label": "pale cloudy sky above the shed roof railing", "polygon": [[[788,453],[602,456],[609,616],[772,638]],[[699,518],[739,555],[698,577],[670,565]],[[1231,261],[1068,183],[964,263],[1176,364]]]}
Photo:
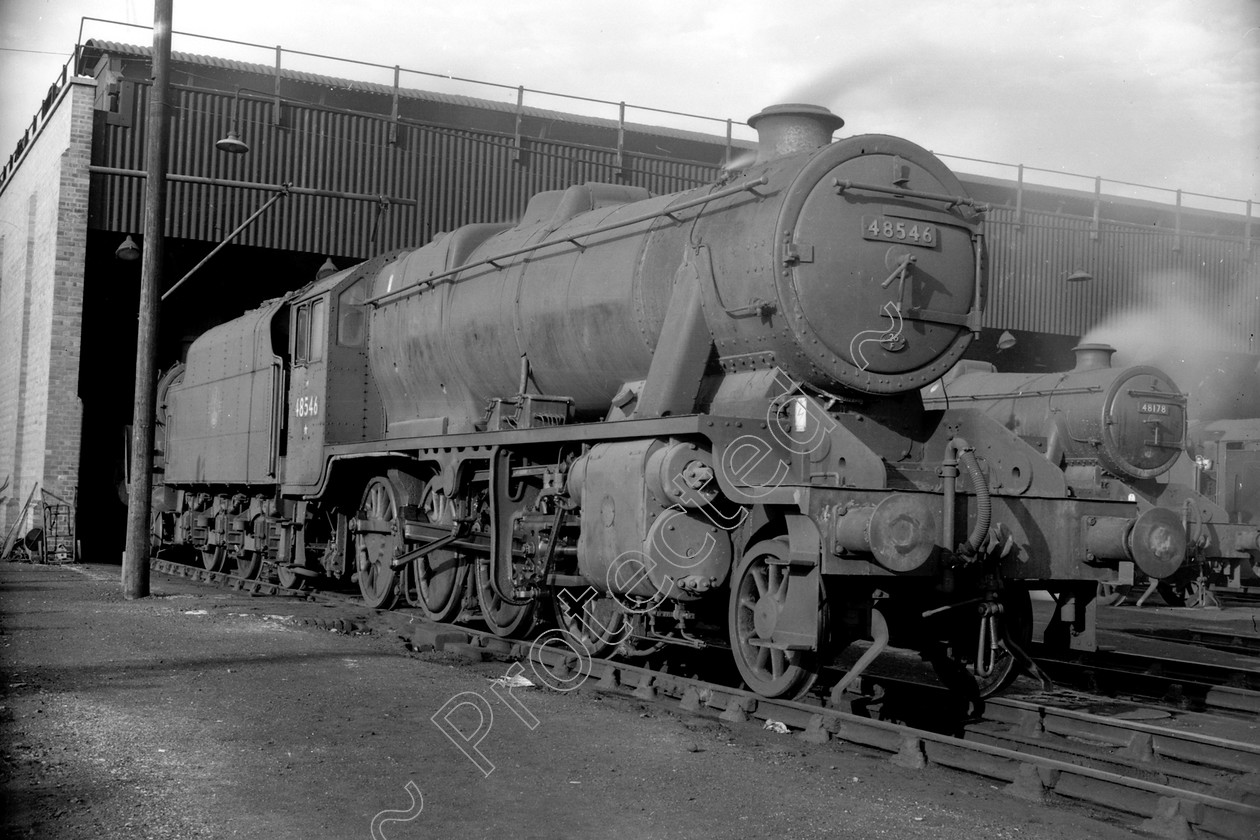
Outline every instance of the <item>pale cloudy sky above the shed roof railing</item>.
{"label": "pale cloudy sky above the shed roof railing", "polygon": [[[0,160],[84,15],[149,25],[152,11],[145,0],[0,0]],[[809,102],[844,117],[837,136],[892,133],[944,155],[1260,200],[1260,0],[174,0],[174,29],[721,118]],[[83,31],[152,39],[94,21]],[[275,60],[273,50],[181,35],[174,49]],[[285,65],[392,81],[310,59]],[[407,74],[403,84],[509,96]],[[534,94],[525,102],[570,110]],[[615,107],[590,108],[616,117]],[[1092,189],[1055,174],[1028,179]]]}

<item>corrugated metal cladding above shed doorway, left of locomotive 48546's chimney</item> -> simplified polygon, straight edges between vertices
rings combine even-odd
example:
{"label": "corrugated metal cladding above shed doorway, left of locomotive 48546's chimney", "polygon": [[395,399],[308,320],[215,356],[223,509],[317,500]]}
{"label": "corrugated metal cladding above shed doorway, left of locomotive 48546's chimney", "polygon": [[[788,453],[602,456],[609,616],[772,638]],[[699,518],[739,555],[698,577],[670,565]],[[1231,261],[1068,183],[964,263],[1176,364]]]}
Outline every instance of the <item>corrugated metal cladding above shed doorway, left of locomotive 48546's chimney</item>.
{"label": "corrugated metal cladding above shed doorway, left of locomotive 48546's chimney", "polygon": [[[130,125],[102,125],[93,164],[142,170],[149,86],[137,84]],[[238,132],[249,152],[232,155],[214,144],[232,123],[232,97],[173,91],[170,193],[166,236],[218,242],[261,207],[273,191],[179,181],[178,176],[292,183],[296,188],[387,196],[391,201],[291,194],[237,239],[239,244],[343,257],[368,257],[413,247],[435,233],[472,222],[518,217],[529,196],[588,180],[614,180],[672,193],[714,178],[716,169],[615,150],[478,131],[402,125],[391,144],[391,122],[301,107],[286,102],[284,125],[273,123],[270,101],[242,97]],[[519,157],[520,162],[517,162]],[[406,203],[397,203],[402,200]],[[142,228],[144,180],[97,174],[92,227]]]}

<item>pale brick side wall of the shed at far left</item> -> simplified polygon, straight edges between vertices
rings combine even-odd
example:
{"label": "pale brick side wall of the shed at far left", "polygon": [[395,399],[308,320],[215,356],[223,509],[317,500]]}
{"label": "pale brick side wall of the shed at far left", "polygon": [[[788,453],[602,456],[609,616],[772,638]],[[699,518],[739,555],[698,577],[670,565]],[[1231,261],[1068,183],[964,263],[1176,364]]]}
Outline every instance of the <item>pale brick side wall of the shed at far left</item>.
{"label": "pale brick side wall of the shed at far left", "polygon": [[[0,482],[11,476],[0,534],[37,482],[67,501],[79,482],[94,93],[91,79],[67,84],[0,193]],[[20,530],[33,523],[34,516]]]}

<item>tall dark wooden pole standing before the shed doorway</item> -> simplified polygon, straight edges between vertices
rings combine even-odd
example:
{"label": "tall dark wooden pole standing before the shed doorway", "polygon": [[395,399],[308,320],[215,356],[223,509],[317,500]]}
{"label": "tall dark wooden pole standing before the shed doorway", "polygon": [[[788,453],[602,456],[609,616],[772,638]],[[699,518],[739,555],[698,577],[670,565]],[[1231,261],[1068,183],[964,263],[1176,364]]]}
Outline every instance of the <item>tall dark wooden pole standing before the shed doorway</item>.
{"label": "tall dark wooden pole standing before the shed doorway", "polygon": [[136,397],[131,418],[131,486],[122,597],[149,594],[149,510],[152,492],[154,383],[158,368],[158,291],[166,220],[166,159],[170,151],[166,94],[170,89],[170,30],[174,0],[154,0],[154,83],[149,91],[149,149],[145,159],[145,244],[140,263],[136,334]]}

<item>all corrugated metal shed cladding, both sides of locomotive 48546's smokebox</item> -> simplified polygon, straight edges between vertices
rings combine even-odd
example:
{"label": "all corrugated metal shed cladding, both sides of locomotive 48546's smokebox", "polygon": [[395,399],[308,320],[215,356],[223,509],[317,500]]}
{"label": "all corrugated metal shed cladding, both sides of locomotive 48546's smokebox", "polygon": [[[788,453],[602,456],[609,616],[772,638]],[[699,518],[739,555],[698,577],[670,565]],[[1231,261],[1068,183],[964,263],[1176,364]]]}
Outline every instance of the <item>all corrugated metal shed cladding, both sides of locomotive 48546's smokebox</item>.
{"label": "all corrugated metal shed cladding, both sides of locomotive 48546's smokebox", "polygon": [[[144,167],[147,84],[136,84],[130,125],[103,125],[93,162]],[[472,222],[509,220],[529,196],[590,180],[672,193],[716,178],[712,166],[488,131],[391,123],[379,116],[324,111],[286,102],[284,127],[271,101],[242,98],[246,155],[214,147],[232,118],[232,97],[174,91],[170,171],[203,179],[388,196],[408,204],[290,195],[238,239],[241,244],[363,258],[413,247]],[[98,132],[100,133],[100,132]],[[721,142],[714,139],[714,142]],[[96,175],[93,228],[139,232],[144,181]],[[965,181],[965,178],[964,178]],[[173,181],[168,236],[218,242],[272,193]],[[1060,213],[994,208],[988,237],[992,267],[984,324],[989,327],[1082,335],[1109,315],[1158,306],[1168,295],[1200,311],[1220,311],[1228,349],[1256,351],[1260,272],[1236,239],[1176,234]],[[1096,225],[1096,227],[1095,227]],[[1096,230],[1096,237],[1091,236]],[[1094,276],[1067,282],[1074,271]],[[1176,326],[1176,325],[1173,325]]]}

